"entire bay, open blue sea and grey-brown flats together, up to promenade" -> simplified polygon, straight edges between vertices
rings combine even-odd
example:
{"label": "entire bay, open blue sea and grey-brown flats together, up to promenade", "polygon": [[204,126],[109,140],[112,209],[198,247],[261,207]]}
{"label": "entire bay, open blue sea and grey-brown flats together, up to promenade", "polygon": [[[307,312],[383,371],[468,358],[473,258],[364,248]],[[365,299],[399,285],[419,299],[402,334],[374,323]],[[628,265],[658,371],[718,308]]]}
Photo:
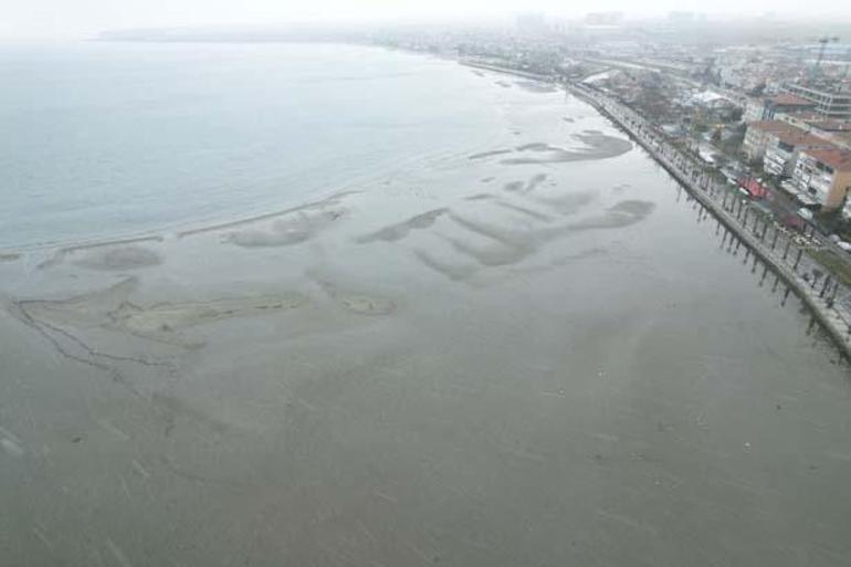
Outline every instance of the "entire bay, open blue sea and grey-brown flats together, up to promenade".
{"label": "entire bay, open blue sea and grey-brown flats together, up to promenade", "polygon": [[851,561],[847,366],[588,105],[364,48],[0,57],[0,565]]}

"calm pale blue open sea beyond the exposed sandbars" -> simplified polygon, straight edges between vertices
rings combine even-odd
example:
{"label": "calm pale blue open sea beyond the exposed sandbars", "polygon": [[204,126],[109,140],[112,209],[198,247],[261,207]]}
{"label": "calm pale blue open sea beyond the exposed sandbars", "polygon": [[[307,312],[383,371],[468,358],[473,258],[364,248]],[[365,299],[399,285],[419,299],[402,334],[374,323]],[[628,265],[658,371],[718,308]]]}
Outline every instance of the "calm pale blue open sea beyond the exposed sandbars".
{"label": "calm pale blue open sea beyond the exposed sandbars", "polygon": [[0,48],[0,249],[269,212],[476,147],[497,112],[476,80],[340,45]]}

